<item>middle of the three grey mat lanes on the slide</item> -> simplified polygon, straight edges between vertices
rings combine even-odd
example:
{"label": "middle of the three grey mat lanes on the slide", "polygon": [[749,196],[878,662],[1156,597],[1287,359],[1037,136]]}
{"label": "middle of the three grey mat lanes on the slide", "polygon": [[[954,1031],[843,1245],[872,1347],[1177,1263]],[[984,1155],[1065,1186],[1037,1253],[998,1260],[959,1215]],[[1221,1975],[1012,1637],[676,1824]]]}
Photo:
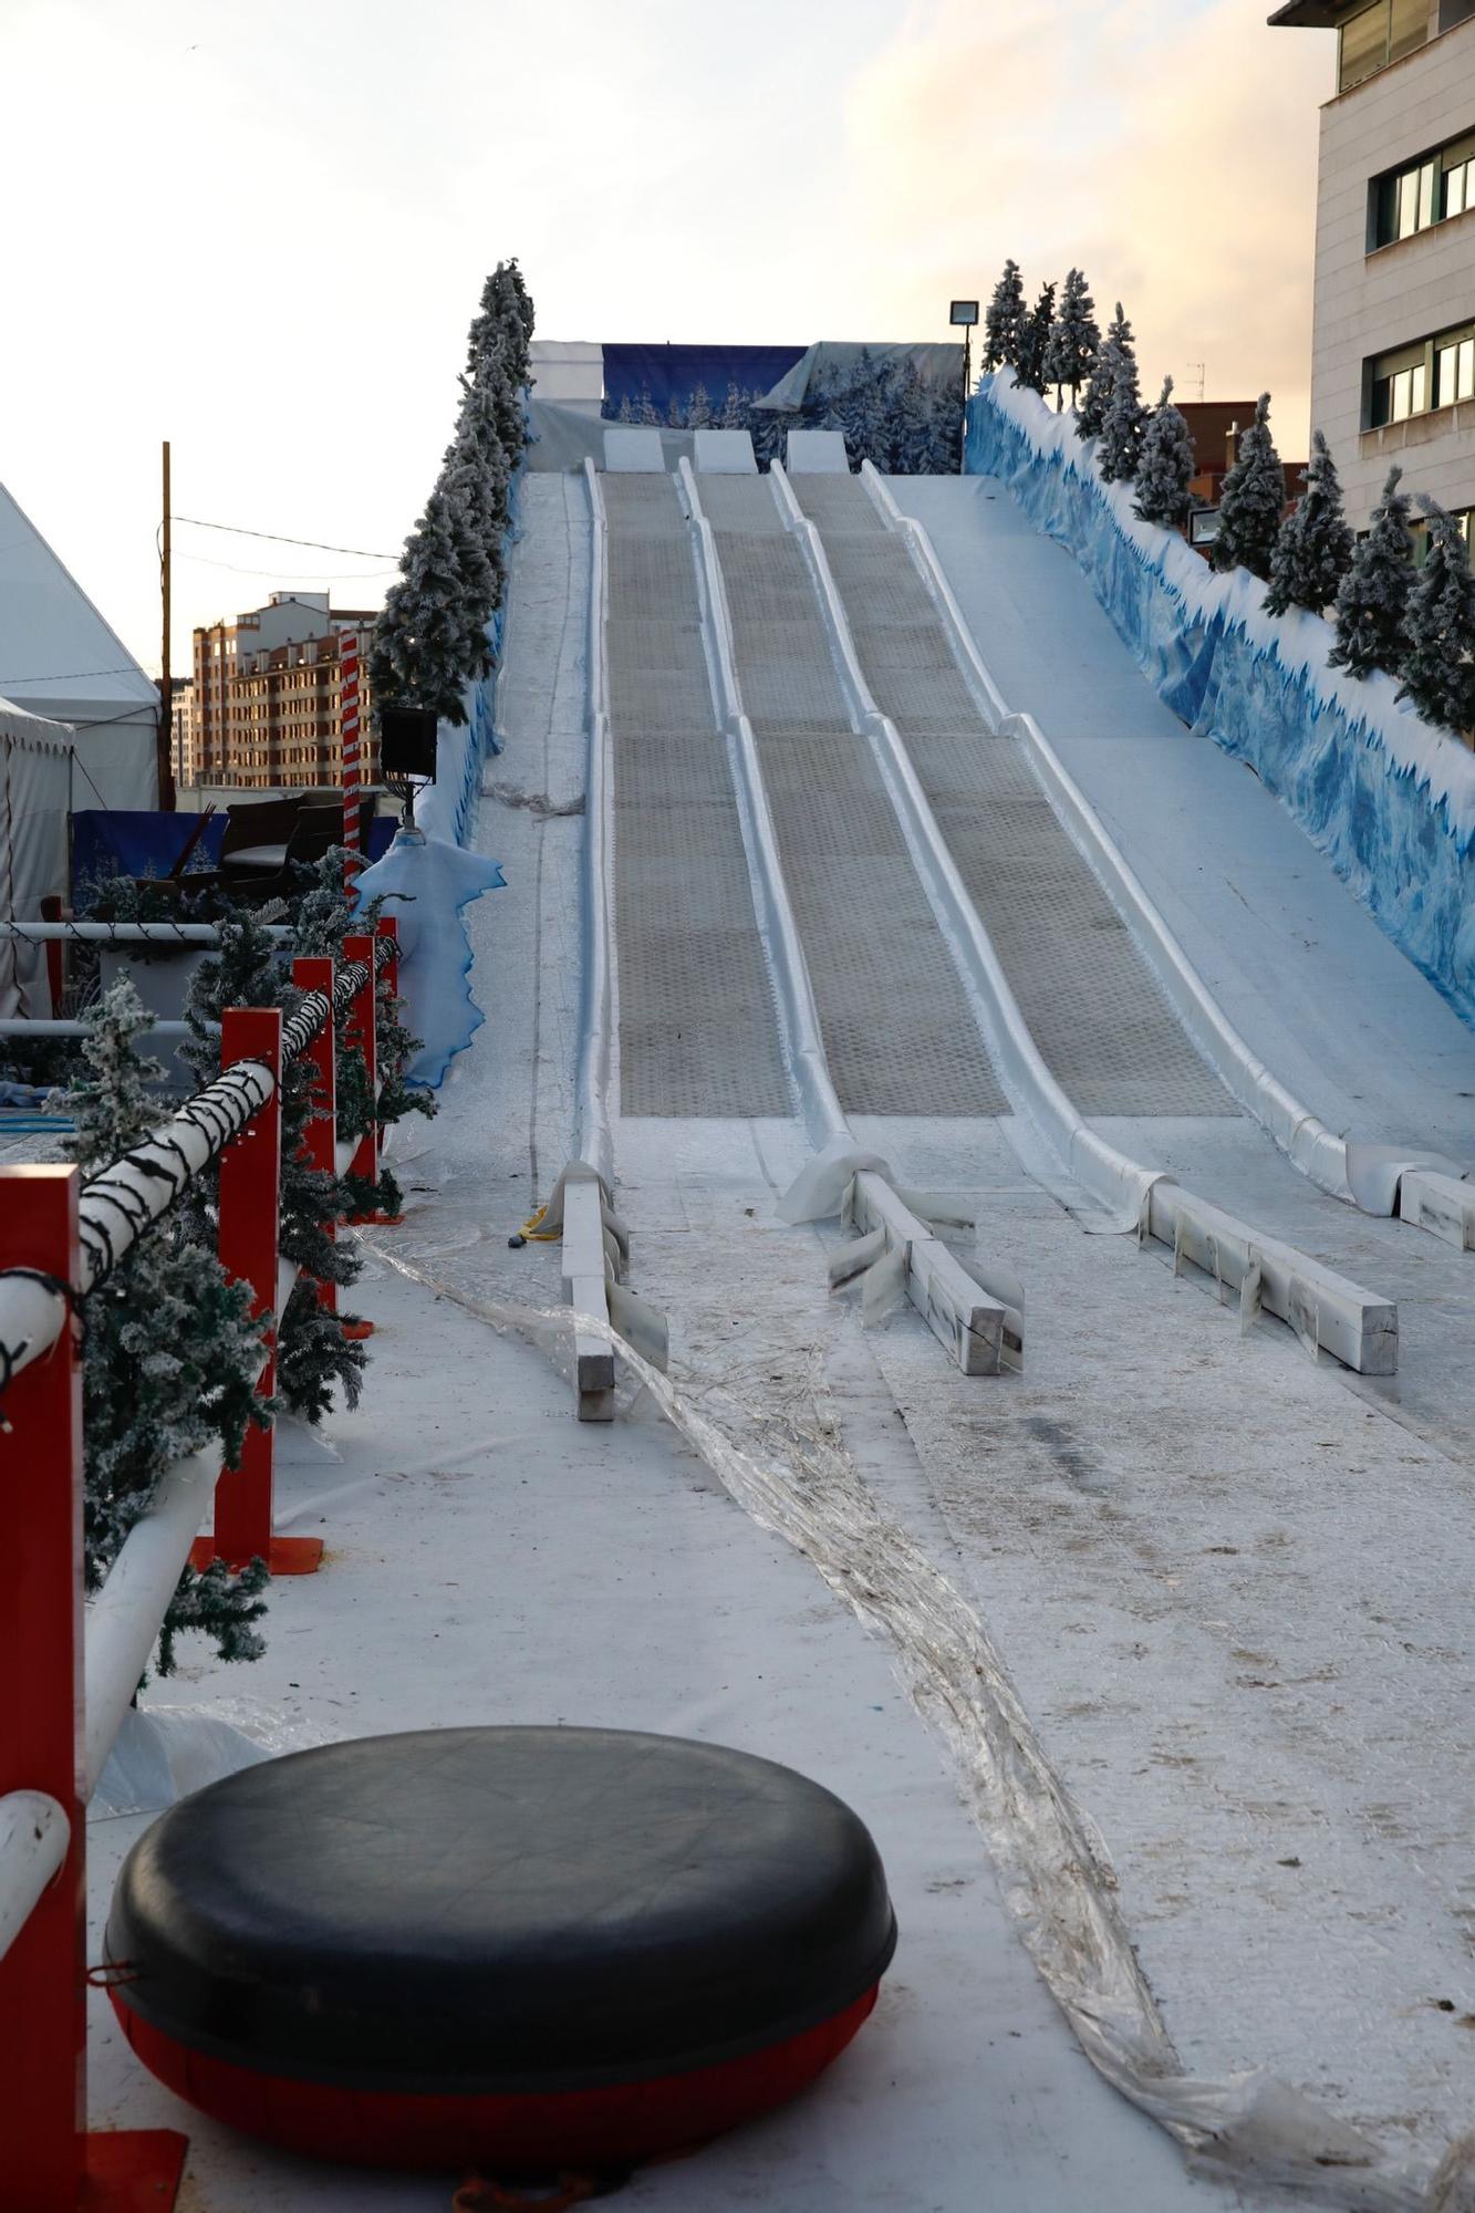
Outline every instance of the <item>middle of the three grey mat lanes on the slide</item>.
{"label": "middle of the three grey mat lanes on the slide", "polygon": [[808,567],[771,487],[704,478],[702,505],[839,1102],[1008,1113],[870,748],[848,728]]}

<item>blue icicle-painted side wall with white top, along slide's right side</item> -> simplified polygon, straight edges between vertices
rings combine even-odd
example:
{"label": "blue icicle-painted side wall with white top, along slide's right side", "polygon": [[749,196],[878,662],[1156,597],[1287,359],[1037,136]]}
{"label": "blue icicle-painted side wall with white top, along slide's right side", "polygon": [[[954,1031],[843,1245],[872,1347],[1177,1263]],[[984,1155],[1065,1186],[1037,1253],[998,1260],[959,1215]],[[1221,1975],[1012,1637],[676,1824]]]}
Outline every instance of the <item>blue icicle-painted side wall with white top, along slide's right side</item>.
{"label": "blue icicle-painted side wall with white top, along slide's right side", "polygon": [[1094,447],[999,374],[968,407],[963,467],[997,476],[1074,553],[1158,697],[1247,761],[1459,1016],[1475,1025],[1475,757],[1400,706],[1391,677],[1327,666],[1320,615],[1267,615],[1247,569],[1216,575],[1103,485]]}

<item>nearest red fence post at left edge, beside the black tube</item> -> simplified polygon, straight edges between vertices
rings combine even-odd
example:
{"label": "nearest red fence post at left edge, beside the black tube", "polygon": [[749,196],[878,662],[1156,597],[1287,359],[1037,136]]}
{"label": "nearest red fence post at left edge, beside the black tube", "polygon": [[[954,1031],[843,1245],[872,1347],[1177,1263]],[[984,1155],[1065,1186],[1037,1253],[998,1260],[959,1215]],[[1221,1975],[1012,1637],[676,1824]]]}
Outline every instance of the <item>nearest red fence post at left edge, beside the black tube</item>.
{"label": "nearest red fence post at left edge, beside the black tube", "polygon": [[[78,1168],[0,1168],[0,1268],[80,1277]],[[82,1804],[82,1363],[75,1330],[11,1381],[0,1430],[9,1505],[0,1797],[44,1790],[71,1821],[62,1872],[0,1961],[0,2209],[168,2213],[186,2140],[86,2136],[86,1808]],[[148,2195],[144,2195],[148,2193]]]}

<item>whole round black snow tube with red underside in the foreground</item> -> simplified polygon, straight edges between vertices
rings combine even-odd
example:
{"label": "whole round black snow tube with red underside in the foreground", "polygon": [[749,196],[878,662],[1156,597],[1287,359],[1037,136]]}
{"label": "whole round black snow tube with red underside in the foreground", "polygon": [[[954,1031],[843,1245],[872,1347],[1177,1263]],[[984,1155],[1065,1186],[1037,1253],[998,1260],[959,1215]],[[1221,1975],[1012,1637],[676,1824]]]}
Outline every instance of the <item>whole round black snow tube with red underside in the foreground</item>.
{"label": "whole round black snow tube with red underside in the foreground", "polygon": [[133,1846],[128,2043],[215,2120],[390,2169],[620,2173],[793,2098],[897,1925],[828,1790],[715,1744],[443,1728],[290,1753]]}

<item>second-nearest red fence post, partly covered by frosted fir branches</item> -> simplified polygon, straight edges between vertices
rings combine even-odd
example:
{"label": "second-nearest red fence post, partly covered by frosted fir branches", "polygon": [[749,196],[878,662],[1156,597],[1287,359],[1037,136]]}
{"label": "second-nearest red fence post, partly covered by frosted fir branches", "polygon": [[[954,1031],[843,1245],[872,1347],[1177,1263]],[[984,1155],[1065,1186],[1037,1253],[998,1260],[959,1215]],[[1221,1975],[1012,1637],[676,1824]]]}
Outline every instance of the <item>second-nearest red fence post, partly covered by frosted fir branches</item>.
{"label": "second-nearest red fence post, partly covered by frosted fir branches", "polygon": [[[281,1014],[277,1007],[226,1007],[219,1027],[219,1064],[264,1060],[275,1076],[272,1095],[239,1137],[219,1155],[219,1259],[235,1284],[250,1286],[250,1310],[264,1323],[266,1365],[259,1392],[277,1388],[277,1230],[281,1213]],[[195,1538],[190,1560],[226,1560],[239,1569],[266,1560],[272,1576],[310,1576],[323,1547],[319,1538],[272,1531],[275,1432],[246,1430],[239,1467],[221,1467],[215,1485],[215,1536]]]}

